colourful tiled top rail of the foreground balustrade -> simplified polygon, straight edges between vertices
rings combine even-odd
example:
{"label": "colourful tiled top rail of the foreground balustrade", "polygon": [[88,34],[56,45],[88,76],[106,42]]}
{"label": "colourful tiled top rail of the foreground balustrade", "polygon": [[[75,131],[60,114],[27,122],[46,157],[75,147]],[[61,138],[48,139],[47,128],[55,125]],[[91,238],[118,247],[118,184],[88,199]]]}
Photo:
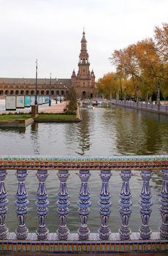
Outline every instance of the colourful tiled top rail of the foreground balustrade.
{"label": "colourful tiled top rail of the foreground balustrade", "polygon": [[27,170],[161,170],[168,168],[167,155],[112,157],[0,156],[0,168]]}

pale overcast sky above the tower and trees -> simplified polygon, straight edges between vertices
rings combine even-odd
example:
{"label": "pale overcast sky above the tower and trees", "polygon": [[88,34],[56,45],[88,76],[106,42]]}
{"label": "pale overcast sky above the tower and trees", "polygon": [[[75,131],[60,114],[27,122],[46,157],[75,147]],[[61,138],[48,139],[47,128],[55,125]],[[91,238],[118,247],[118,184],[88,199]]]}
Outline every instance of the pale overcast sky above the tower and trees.
{"label": "pale overcast sky above the tower and trees", "polygon": [[113,50],[153,36],[168,0],[0,0],[0,77],[70,78],[83,27],[96,79],[115,70]]}

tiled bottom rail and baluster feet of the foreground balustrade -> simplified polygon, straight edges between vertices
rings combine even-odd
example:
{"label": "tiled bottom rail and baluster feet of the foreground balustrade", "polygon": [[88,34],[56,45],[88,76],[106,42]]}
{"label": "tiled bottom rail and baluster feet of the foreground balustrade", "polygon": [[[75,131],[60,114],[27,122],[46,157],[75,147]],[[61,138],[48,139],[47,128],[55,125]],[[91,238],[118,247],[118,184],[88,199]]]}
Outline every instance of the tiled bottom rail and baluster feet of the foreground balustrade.
{"label": "tiled bottom rail and baluster feet of the foreground balustrade", "polygon": [[77,233],[69,235],[67,241],[59,241],[55,233],[50,233],[46,241],[37,240],[34,233],[28,233],[25,241],[15,237],[15,233],[8,233],[9,239],[0,241],[0,252],[168,252],[168,243],[159,239],[159,233],[153,233],[150,240],[140,240],[139,233],[132,233],[128,241],[119,240],[117,233],[107,241],[100,241],[94,233],[90,234],[89,241],[78,240]]}

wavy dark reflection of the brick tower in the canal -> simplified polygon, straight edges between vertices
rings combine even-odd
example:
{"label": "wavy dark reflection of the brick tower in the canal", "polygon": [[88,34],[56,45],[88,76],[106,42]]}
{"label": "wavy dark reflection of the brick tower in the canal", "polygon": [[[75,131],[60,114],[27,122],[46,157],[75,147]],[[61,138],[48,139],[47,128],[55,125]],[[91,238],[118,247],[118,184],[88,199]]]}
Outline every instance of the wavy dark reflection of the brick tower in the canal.
{"label": "wavy dark reflection of the brick tower in the canal", "polygon": [[79,123],[77,127],[77,140],[79,141],[79,146],[77,147],[82,152],[76,151],[77,154],[84,155],[85,151],[89,150],[90,143],[90,135],[89,135],[89,116],[88,110],[81,111],[82,113],[82,121]]}

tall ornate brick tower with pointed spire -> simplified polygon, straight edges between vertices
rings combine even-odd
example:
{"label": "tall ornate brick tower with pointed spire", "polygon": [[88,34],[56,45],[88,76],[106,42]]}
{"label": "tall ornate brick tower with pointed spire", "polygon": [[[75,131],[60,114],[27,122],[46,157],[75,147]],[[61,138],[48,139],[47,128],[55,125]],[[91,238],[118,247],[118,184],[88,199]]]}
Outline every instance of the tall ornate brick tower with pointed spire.
{"label": "tall ornate brick tower with pointed spire", "polygon": [[87,50],[87,41],[85,39],[85,31],[83,30],[83,37],[81,39],[80,56],[78,62],[78,72],[72,72],[72,86],[74,87],[77,98],[91,99],[95,95],[95,75],[92,70],[90,72],[89,56]]}

